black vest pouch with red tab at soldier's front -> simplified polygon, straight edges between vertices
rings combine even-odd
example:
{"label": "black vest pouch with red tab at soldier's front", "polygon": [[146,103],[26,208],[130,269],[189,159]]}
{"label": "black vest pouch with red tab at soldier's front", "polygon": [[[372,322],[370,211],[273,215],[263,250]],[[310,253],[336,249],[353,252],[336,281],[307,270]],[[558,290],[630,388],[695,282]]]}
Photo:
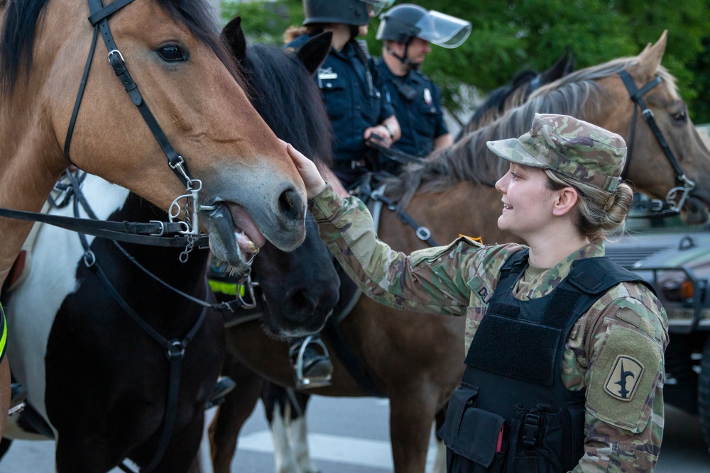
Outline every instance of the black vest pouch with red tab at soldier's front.
{"label": "black vest pouch with red tab at soldier's front", "polygon": [[462,383],[457,387],[449,399],[446,421],[437,431],[447,446],[448,473],[505,471],[508,445],[499,440],[506,420],[476,408],[477,395],[476,386]]}

